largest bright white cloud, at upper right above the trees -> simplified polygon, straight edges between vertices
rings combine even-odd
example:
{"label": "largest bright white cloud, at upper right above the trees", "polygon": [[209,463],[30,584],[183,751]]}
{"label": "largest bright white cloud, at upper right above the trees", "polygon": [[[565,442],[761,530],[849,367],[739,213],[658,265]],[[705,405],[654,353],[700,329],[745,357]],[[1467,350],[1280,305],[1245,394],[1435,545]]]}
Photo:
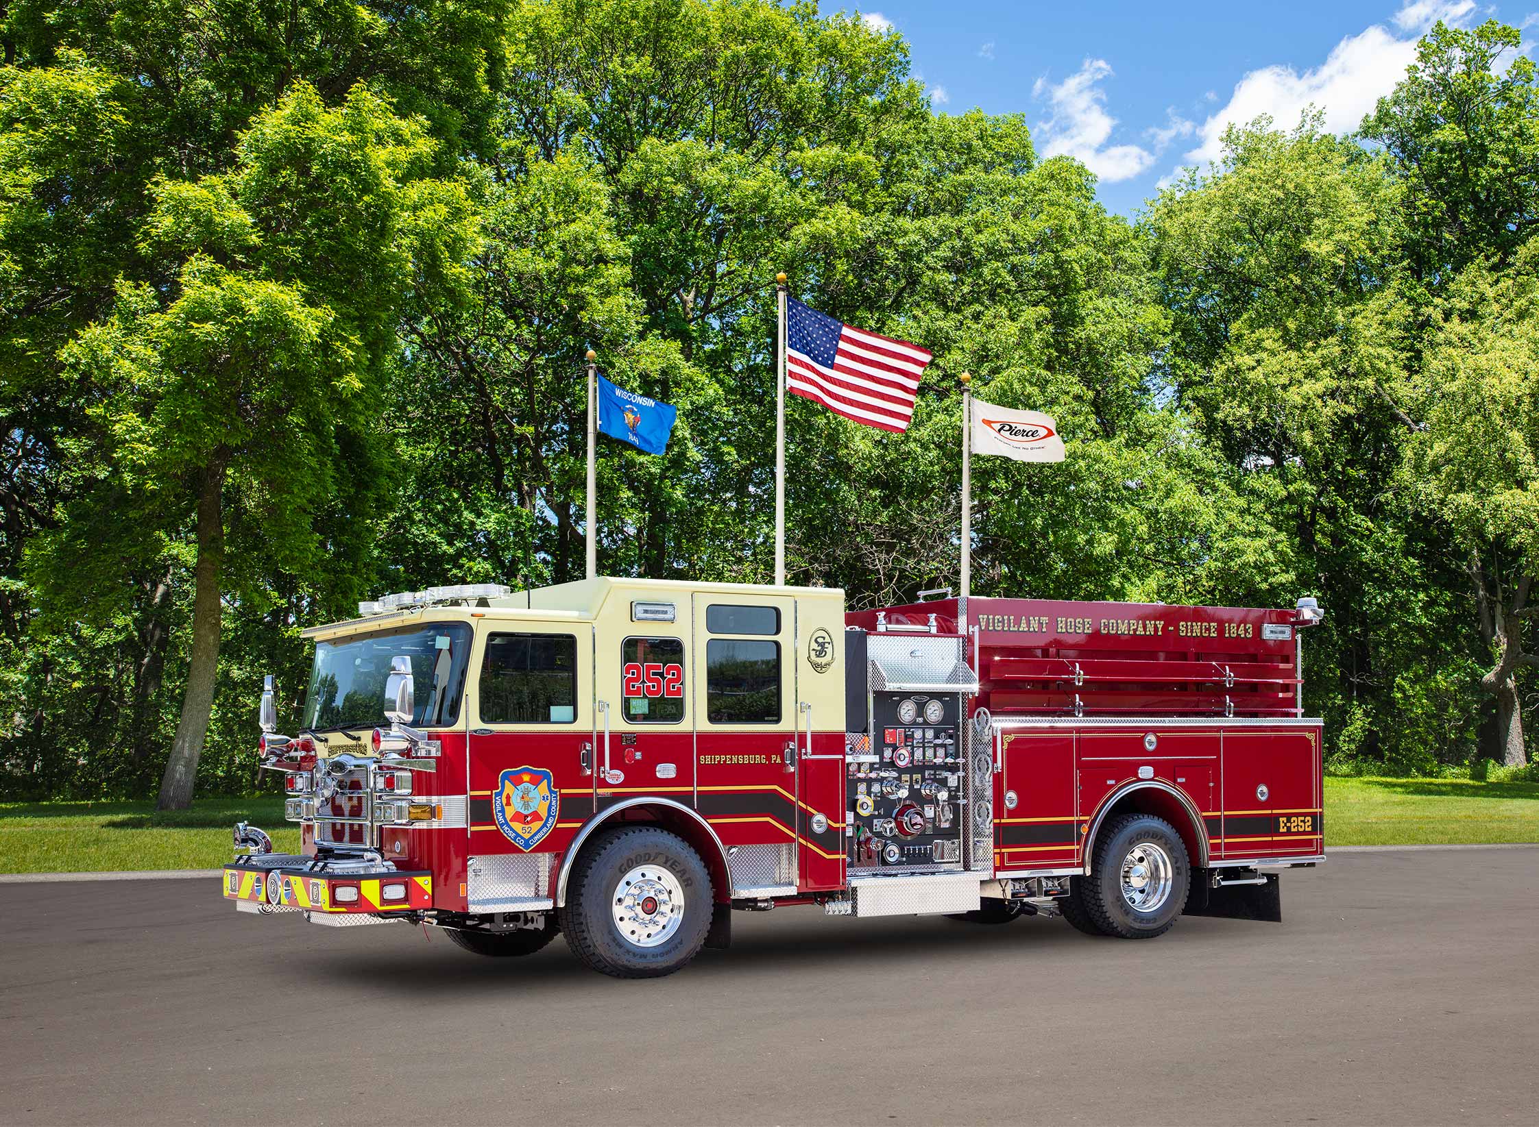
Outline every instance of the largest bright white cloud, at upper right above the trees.
{"label": "largest bright white cloud, at upper right above the trees", "polygon": [[1250,71],[1234,85],[1228,103],[1197,128],[1199,143],[1185,154],[1185,161],[1217,160],[1224,131],[1262,114],[1277,128],[1290,129],[1305,108],[1314,106],[1325,115],[1330,132],[1356,129],[1379,98],[1405,77],[1405,68],[1416,58],[1416,40],[1434,22],[1459,23],[1473,11],[1473,0],[1407,0],[1393,17],[1400,35],[1374,23],[1337,43],[1314,69],[1300,74],[1276,63]]}

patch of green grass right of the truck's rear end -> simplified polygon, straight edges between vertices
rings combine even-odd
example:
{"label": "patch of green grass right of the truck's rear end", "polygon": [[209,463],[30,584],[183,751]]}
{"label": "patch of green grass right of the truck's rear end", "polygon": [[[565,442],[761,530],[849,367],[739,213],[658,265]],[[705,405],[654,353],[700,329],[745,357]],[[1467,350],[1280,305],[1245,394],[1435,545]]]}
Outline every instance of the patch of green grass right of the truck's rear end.
{"label": "patch of green grass right of the truck's rear end", "polygon": [[1327,778],[1325,847],[1539,841],[1539,783]]}

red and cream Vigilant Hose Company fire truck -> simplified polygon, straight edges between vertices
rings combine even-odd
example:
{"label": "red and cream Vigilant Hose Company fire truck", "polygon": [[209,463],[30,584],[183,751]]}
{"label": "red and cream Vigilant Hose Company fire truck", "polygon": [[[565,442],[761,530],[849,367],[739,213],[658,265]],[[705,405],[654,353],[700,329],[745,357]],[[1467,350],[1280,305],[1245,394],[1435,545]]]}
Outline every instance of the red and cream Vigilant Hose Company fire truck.
{"label": "red and cream Vigilant Hose Company fire truck", "polygon": [[1128,939],[1280,919],[1324,861],[1320,723],[1290,610],[594,578],[437,587],[306,630],[277,735],[302,852],[235,827],[225,896],[479,955],[565,932],[616,976],[731,912],[1062,915]]}

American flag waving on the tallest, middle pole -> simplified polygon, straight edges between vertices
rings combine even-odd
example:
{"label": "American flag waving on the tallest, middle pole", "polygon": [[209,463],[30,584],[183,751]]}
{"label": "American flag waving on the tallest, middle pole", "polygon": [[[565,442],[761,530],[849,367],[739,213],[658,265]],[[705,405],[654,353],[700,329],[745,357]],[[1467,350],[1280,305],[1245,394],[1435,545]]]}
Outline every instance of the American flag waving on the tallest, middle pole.
{"label": "American flag waving on the tallest, middle pole", "polygon": [[908,429],[928,349],[840,324],[796,298],[786,306],[785,335],[786,391],[856,423]]}

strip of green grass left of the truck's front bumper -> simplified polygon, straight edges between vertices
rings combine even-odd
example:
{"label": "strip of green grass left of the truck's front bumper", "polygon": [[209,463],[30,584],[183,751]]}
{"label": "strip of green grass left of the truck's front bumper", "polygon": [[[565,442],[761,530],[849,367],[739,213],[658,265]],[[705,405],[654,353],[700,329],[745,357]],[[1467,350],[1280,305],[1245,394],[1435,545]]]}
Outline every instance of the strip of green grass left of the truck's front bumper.
{"label": "strip of green grass left of the truck's front bumper", "polygon": [[299,852],[282,798],[208,798],[166,813],[154,803],[0,803],[0,873],[217,869],[234,855],[237,821]]}

